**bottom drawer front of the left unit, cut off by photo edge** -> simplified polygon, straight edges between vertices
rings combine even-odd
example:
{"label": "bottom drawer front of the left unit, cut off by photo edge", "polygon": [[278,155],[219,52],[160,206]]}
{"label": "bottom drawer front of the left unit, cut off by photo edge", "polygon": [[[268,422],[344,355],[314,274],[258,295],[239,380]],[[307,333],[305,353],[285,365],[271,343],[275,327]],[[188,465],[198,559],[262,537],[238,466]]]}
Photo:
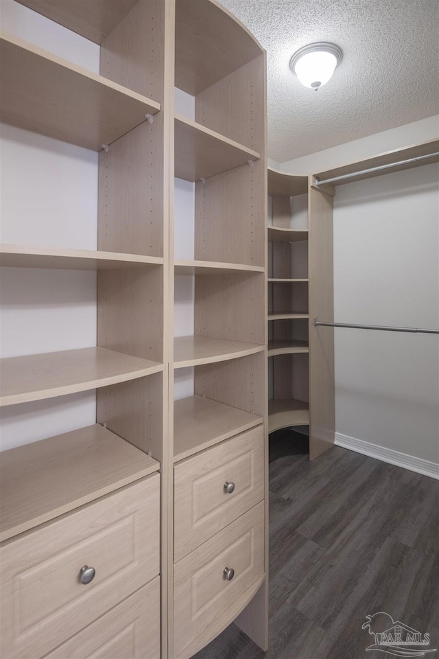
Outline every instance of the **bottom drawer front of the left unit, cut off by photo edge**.
{"label": "bottom drawer front of the left unit, cut off by photo edge", "polygon": [[158,659],[160,577],[82,629],[45,659]]}

